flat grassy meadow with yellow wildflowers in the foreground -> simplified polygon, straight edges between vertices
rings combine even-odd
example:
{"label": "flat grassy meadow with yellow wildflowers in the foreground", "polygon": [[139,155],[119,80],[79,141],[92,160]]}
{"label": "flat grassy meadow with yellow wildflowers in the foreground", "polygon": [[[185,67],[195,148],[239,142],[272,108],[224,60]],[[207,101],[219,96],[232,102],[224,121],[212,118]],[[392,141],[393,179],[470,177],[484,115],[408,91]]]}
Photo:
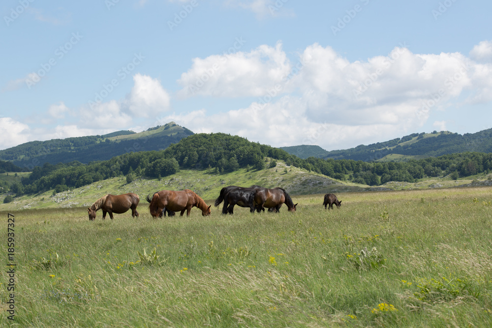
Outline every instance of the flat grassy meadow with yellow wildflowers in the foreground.
{"label": "flat grassy meadow with yellow wildflowers in the foreground", "polygon": [[295,213],[9,211],[16,312],[3,269],[0,325],[489,327],[490,187],[338,193],[334,210],[292,198]]}

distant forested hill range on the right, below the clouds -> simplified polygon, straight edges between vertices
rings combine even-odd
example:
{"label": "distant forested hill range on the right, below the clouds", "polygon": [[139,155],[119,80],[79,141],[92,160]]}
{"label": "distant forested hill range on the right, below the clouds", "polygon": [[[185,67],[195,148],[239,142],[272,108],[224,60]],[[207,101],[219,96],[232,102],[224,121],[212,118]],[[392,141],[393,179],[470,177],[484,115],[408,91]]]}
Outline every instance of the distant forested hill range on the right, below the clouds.
{"label": "distant forested hill range on the right, below the clouds", "polygon": [[[376,161],[388,156],[394,160],[394,155],[408,159],[437,157],[445,154],[466,151],[492,152],[492,129],[477,133],[451,133],[448,131],[432,133],[413,133],[402,138],[370,145],[360,145],[355,148],[332,150],[323,153],[313,146],[297,146],[283,148],[291,154],[302,158],[314,156],[318,158],[353,159],[365,162]],[[311,150],[314,149],[314,152]]]}

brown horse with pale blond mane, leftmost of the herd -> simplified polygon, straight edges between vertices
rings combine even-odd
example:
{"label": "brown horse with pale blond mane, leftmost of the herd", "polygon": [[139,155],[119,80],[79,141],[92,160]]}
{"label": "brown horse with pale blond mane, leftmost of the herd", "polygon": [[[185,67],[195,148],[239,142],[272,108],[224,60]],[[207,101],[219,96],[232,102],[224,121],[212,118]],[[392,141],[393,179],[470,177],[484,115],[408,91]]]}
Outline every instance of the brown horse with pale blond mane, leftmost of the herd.
{"label": "brown horse with pale blond mane, leftmost of the herd", "polygon": [[128,193],[123,195],[105,195],[99,198],[87,209],[89,212],[89,220],[95,219],[95,212],[98,209],[102,209],[102,219],[106,219],[106,213],[109,213],[111,220],[113,219],[113,213],[122,214],[128,209],[131,209],[131,216],[138,216],[137,205],[140,202],[140,198],[137,194]]}

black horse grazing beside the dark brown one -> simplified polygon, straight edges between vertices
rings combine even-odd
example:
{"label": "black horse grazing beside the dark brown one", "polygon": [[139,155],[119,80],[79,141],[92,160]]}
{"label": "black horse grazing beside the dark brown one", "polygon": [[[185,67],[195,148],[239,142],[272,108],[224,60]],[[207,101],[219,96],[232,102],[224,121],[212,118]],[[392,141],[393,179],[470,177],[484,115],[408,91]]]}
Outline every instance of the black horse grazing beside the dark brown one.
{"label": "black horse grazing beside the dark brown one", "polygon": [[245,188],[238,186],[223,187],[215,200],[215,206],[219,206],[224,201],[222,214],[234,214],[234,206],[249,208],[250,213],[254,213],[255,188]]}

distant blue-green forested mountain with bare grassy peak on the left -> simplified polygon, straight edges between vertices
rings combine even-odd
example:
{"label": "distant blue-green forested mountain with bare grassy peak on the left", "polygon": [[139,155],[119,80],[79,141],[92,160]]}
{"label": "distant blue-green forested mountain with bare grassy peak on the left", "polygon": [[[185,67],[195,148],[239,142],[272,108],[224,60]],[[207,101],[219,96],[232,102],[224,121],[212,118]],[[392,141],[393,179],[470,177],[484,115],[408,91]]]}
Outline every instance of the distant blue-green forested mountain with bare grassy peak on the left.
{"label": "distant blue-green forested mountain with bare grassy peak on the left", "polygon": [[117,131],[106,135],[32,141],[0,150],[0,160],[11,161],[28,170],[44,163],[89,163],[130,151],[166,149],[192,134],[190,130],[170,122],[140,133]]}

